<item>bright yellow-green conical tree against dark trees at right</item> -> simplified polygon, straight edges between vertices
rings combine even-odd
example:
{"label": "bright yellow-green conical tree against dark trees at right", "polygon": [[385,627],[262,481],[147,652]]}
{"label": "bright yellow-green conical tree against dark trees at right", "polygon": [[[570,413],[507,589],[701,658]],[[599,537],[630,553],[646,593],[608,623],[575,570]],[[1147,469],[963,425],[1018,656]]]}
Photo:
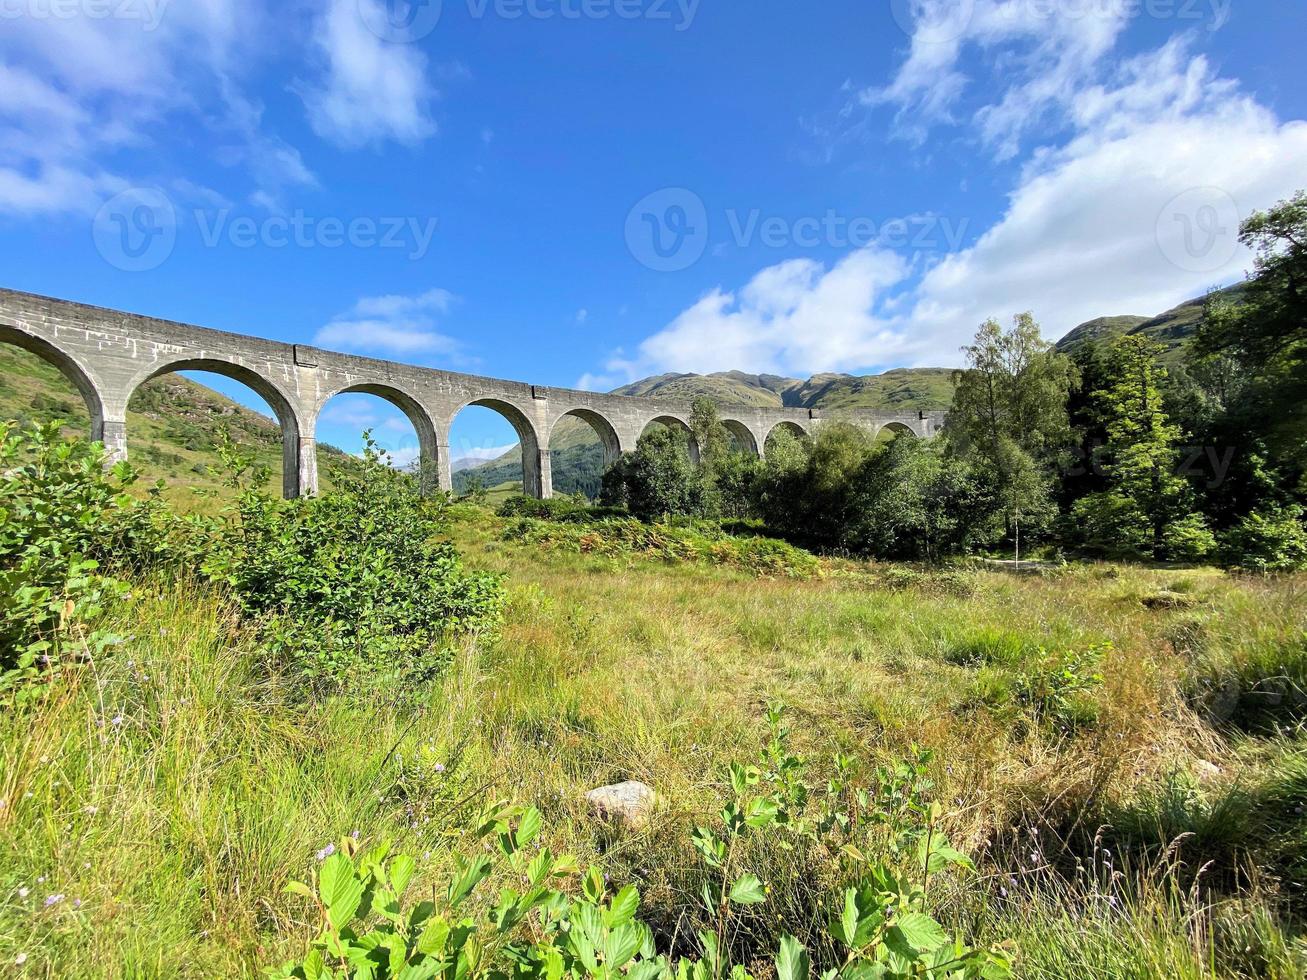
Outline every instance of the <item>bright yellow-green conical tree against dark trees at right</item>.
{"label": "bright yellow-green conical tree against dark trees at right", "polygon": [[1076,502],[1072,517],[1091,550],[1132,558],[1195,559],[1210,553],[1212,532],[1176,476],[1180,429],[1162,408],[1162,346],[1125,336],[1111,349],[1110,383],[1094,393],[1107,433],[1102,452],[1108,489]]}

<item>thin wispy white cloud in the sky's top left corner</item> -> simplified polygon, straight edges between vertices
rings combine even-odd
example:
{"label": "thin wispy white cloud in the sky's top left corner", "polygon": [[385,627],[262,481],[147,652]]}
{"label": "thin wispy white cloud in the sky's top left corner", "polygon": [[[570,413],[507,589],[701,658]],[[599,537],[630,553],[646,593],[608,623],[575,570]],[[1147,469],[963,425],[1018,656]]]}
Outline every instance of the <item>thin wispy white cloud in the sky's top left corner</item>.
{"label": "thin wispy white cloud in the sky's top left corner", "polygon": [[[33,8],[35,9],[35,8]],[[124,169],[161,132],[197,123],[214,158],[248,171],[254,193],[314,183],[297,150],[261,124],[238,74],[264,51],[256,0],[139,3],[133,16],[5,17],[0,33],[0,212],[93,213],[132,184]],[[149,158],[149,157],[146,157]]]}

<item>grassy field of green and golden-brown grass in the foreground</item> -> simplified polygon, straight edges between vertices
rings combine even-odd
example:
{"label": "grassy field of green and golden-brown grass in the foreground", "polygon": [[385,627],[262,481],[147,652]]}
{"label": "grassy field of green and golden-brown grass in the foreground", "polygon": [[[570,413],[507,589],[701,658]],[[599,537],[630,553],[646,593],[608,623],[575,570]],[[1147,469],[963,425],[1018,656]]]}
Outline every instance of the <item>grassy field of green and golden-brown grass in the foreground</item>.
{"label": "grassy field of green and golden-brown grass in the foreground", "polygon": [[[393,840],[421,892],[489,794],[638,883],[674,945],[699,882],[689,831],[783,700],[817,776],[835,750],[864,771],[935,751],[932,793],[978,865],[940,915],[1012,939],[1018,975],[1302,976],[1307,578],[757,578],[455,514],[510,609],[417,704],[305,703],[220,598],[167,584],[136,591],[112,657],[0,717],[0,975],[255,976],[302,950],[312,915],[284,889],[325,844]],[[638,834],[584,805],[623,779],[660,794]],[[823,868],[752,860],[771,887],[759,937],[814,930]]]}

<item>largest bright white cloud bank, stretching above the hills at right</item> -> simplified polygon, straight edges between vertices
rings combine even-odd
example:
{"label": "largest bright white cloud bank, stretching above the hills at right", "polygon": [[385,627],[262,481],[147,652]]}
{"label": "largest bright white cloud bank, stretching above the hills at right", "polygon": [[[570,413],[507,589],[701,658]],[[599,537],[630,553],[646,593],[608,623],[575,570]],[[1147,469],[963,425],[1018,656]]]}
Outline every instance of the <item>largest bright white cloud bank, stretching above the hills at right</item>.
{"label": "largest bright white cloud bank, stretching above the hills at right", "polygon": [[[1026,159],[1005,213],[975,244],[919,276],[874,250],[830,269],[780,263],[738,294],[708,293],[635,357],[582,380],[955,365],[991,316],[1030,310],[1056,338],[1236,280],[1251,265],[1239,220],[1302,187],[1307,123],[1278,120],[1179,41],[1110,73],[1112,84],[1059,94],[1072,135]],[[1004,94],[995,105],[1013,103]]]}

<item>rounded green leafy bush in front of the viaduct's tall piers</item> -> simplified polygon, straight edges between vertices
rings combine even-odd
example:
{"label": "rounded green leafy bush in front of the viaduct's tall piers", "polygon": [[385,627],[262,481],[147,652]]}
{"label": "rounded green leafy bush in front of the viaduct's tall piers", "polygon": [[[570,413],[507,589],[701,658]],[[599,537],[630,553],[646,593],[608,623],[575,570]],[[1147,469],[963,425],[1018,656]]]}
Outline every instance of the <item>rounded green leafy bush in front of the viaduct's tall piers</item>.
{"label": "rounded green leafy bush in front of the viaduct's tall piers", "polygon": [[239,495],[214,525],[204,574],[305,676],[425,679],[455,638],[498,622],[499,579],[467,572],[438,540],[446,498],[423,498],[371,439],[331,490],[298,500],[273,498],[230,442],[221,451]]}

